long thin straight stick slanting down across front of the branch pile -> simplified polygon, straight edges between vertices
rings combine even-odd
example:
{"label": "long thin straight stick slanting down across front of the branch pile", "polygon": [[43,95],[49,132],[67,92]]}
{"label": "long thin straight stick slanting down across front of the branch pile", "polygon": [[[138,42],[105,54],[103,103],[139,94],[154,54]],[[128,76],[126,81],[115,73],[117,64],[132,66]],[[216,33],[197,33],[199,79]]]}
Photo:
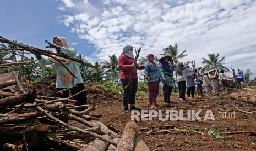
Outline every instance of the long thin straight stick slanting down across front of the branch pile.
{"label": "long thin straight stick slanting down across front of the branch pile", "polygon": [[40,112],[42,112],[43,114],[45,114],[48,118],[52,119],[53,121],[56,121],[58,122],[59,124],[63,125],[63,126],[66,126],[69,130],[71,131],[77,131],[77,132],[81,132],[81,133],[88,133],[96,138],[99,138],[100,140],[103,140],[103,141],[106,141],[108,143],[111,143],[113,144],[114,146],[117,146],[117,143],[114,142],[113,140],[110,140],[109,138],[106,138],[104,136],[101,136],[99,134],[96,134],[96,133],[93,133],[93,132],[90,132],[90,131],[86,131],[86,130],[82,130],[78,127],[74,127],[74,126],[71,126],[67,123],[64,123],[63,121],[53,117],[51,114],[47,113],[44,109],[42,109],[41,107],[36,107],[37,110],[39,110]]}

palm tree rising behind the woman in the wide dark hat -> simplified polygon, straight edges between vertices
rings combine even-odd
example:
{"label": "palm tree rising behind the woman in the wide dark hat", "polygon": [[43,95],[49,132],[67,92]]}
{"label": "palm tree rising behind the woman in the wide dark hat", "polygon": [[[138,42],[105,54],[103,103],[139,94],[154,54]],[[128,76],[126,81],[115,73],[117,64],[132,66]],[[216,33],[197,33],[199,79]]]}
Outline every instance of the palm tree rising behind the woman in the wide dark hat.
{"label": "palm tree rising behind the woman in the wide dark hat", "polygon": [[[164,53],[161,55],[172,57],[172,60],[175,63],[175,73],[176,73],[177,68],[178,68],[178,62],[179,62],[178,60],[187,56],[187,54],[184,54],[184,53],[186,53],[186,49],[183,50],[181,52],[181,54],[179,54],[178,44],[175,44],[174,47],[172,47],[172,45],[169,45],[167,48],[164,48],[163,50],[164,50]],[[177,75],[176,75],[176,77],[177,77]]]}

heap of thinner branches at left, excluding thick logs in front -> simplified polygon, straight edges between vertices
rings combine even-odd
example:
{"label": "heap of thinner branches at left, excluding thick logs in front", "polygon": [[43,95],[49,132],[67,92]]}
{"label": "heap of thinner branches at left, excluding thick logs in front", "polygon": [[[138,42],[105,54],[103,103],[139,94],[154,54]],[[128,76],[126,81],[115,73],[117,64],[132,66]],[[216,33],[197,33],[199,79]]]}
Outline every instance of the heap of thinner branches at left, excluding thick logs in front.
{"label": "heap of thinner branches at left, excluding thick logs in front", "polygon": [[[99,115],[89,115],[92,106],[74,106],[72,97],[39,96],[36,90],[13,92],[6,86],[17,81],[0,83],[1,147],[7,150],[29,150],[45,146],[46,142],[62,143],[75,149],[100,139],[117,146],[111,138],[121,137],[102,124]],[[22,88],[21,88],[22,89]],[[80,93],[80,92],[79,92]],[[83,107],[83,111],[77,108]],[[80,126],[69,122],[77,121]]]}

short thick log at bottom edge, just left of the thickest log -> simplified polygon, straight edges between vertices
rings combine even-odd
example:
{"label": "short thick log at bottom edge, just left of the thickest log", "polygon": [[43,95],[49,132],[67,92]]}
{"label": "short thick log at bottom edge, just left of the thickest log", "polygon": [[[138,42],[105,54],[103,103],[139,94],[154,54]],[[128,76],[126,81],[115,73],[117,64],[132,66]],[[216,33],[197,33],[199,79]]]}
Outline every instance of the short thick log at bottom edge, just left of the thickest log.
{"label": "short thick log at bottom edge, just left of the thickest log", "polygon": [[[104,137],[111,139],[110,136],[104,135]],[[96,138],[94,141],[87,144],[86,147],[79,149],[79,151],[105,151],[108,147],[109,143]]]}

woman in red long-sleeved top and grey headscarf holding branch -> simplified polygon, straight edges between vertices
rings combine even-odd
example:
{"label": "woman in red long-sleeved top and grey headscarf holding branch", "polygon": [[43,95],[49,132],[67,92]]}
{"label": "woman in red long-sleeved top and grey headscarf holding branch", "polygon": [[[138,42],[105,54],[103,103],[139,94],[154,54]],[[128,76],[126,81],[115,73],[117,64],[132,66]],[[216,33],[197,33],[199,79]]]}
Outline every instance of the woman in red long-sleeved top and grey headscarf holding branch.
{"label": "woman in red long-sleeved top and grey headscarf holding branch", "polygon": [[123,52],[118,59],[118,68],[121,70],[119,78],[122,82],[123,88],[126,87],[129,83],[129,78],[133,70],[133,82],[132,84],[123,89],[123,107],[124,113],[128,113],[128,104],[130,104],[130,110],[140,110],[135,107],[135,94],[138,87],[138,75],[137,69],[144,69],[144,66],[137,65],[134,56],[133,56],[133,47],[131,45],[126,45],[123,48]]}

